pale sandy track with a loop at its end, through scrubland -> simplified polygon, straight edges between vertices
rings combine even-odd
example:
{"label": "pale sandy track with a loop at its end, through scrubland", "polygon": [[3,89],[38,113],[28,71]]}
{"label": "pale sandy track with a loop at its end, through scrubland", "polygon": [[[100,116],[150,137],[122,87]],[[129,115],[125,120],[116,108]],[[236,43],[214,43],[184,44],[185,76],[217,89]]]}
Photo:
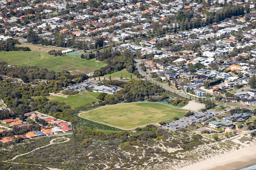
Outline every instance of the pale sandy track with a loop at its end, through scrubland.
{"label": "pale sandy track with a loop at its end, through scrubland", "polygon": [[[56,142],[56,143],[54,143],[54,140],[56,140],[56,139],[67,139],[67,140],[65,140],[65,141],[63,141],[63,142]],[[57,138],[54,138],[54,139],[50,140],[50,144],[48,144],[48,145],[41,146],[41,147],[39,147],[39,148],[35,148],[35,149],[31,150],[30,152],[27,152],[27,153],[23,153],[23,154],[17,155],[17,156],[15,156],[15,157],[13,157],[12,159],[9,159],[9,160],[7,160],[7,161],[3,161],[3,162],[12,161],[12,160],[14,160],[14,159],[18,158],[19,156],[23,156],[23,155],[29,154],[29,153],[31,153],[31,152],[34,152],[35,150],[40,149],[40,148],[45,148],[45,147],[50,146],[50,145],[52,145],[52,144],[64,143],[64,142],[67,142],[67,141],[69,141],[69,140],[70,140],[70,139],[69,139],[69,138],[67,138],[67,137],[57,137]],[[18,163],[18,162],[8,162],[8,163],[15,163],[15,164],[27,164],[27,165],[37,165],[37,166],[42,166],[42,165],[39,165],[39,164],[30,164],[30,163]],[[50,169],[50,170],[61,170],[61,169],[57,169],[57,168],[49,168],[49,167],[47,167],[47,168],[48,168],[48,169]]]}

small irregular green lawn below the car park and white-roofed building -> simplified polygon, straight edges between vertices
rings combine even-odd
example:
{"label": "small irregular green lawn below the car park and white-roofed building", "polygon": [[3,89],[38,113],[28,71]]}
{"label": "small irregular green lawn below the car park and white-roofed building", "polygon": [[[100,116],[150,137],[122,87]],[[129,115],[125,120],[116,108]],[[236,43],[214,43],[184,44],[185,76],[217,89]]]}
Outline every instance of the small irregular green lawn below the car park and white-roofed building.
{"label": "small irregular green lawn below the car park and white-roofed building", "polygon": [[96,97],[98,95],[99,95],[99,93],[89,92],[87,90],[84,90],[84,91],[79,92],[76,95],[69,95],[67,98],[49,95],[49,96],[47,96],[47,99],[49,99],[50,101],[64,102],[64,103],[68,104],[70,107],[76,108],[76,107],[80,107],[80,106],[86,105],[88,103],[97,101]]}

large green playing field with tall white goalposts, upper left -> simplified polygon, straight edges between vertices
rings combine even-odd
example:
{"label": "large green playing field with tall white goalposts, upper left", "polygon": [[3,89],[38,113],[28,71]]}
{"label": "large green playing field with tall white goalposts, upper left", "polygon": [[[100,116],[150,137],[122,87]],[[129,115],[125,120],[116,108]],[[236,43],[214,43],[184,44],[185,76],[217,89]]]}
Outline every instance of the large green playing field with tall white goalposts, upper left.
{"label": "large green playing field with tall white goalposts, upper left", "polygon": [[[29,63],[28,63],[29,58]],[[67,70],[71,74],[79,73],[90,73],[94,72],[96,69],[96,59],[86,60],[79,57],[75,57],[75,61],[72,61],[72,56],[53,56],[48,53],[42,52],[41,55],[32,54],[32,51],[1,51],[0,61],[5,61],[10,65],[17,66],[37,66],[40,69],[47,68],[49,71],[53,70],[60,72],[62,70]],[[104,67],[106,64],[102,62],[99,63],[99,68]]]}

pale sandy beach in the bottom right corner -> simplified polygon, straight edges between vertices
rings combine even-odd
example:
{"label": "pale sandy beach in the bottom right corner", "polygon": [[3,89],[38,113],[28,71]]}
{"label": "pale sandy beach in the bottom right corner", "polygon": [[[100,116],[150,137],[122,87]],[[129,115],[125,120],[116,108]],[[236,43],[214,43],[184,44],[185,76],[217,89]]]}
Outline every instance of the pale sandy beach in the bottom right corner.
{"label": "pale sandy beach in the bottom right corner", "polygon": [[256,162],[256,145],[245,146],[238,150],[233,149],[219,156],[214,156],[203,161],[184,166],[179,170],[230,170],[243,168]]}

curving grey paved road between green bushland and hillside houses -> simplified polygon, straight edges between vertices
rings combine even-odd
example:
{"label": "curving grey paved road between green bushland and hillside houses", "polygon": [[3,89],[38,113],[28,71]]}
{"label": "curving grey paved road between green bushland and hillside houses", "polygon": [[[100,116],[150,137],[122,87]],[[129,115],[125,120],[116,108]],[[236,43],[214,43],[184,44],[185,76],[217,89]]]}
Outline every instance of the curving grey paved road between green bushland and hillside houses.
{"label": "curving grey paved road between green bushland and hillside houses", "polygon": [[147,80],[149,80],[149,81],[151,81],[151,82],[153,82],[153,83],[156,83],[157,85],[161,86],[162,88],[164,88],[164,89],[166,89],[166,90],[169,90],[169,91],[171,91],[171,92],[173,92],[173,93],[176,93],[176,94],[181,95],[181,96],[186,97],[186,98],[190,98],[189,95],[186,95],[186,94],[184,94],[184,93],[180,93],[180,92],[178,92],[178,91],[176,91],[176,90],[173,90],[172,88],[167,87],[166,84],[164,84],[164,83],[159,83],[159,82],[157,82],[156,80],[153,80],[153,79],[151,79],[150,77],[148,77],[148,76],[141,70],[140,64],[142,63],[142,60],[135,60],[135,61],[136,61],[135,66],[136,66],[136,68],[138,69],[139,73],[140,73],[142,76],[145,76]]}

